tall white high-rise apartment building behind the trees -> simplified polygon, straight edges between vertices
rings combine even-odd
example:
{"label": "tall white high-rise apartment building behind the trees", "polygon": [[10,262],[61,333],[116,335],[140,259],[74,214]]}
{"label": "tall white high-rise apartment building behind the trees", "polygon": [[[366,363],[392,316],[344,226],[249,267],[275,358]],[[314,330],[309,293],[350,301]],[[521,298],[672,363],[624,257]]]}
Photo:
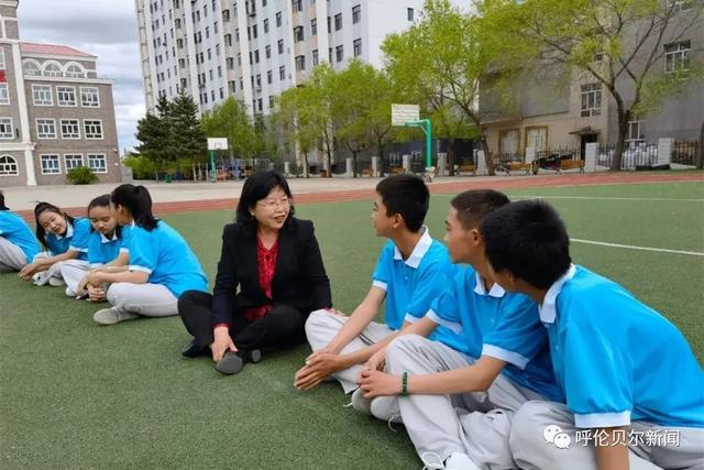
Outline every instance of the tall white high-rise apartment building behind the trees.
{"label": "tall white high-rise apartment building behind the trees", "polygon": [[201,110],[229,96],[251,113],[322,62],[382,65],[387,34],[417,21],[422,0],[135,0],[146,107],[182,90]]}

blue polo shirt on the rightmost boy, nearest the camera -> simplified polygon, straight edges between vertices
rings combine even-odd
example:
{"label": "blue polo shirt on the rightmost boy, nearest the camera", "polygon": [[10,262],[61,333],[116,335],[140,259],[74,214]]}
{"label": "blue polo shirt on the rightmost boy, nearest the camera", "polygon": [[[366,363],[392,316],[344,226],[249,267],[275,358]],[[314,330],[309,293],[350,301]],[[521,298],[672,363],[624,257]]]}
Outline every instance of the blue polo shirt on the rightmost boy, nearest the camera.
{"label": "blue polo shirt on the rightmost boy, nearest the camera", "polygon": [[704,372],[690,346],[620,285],[572,265],[548,289],[540,319],[578,427],[704,427]]}

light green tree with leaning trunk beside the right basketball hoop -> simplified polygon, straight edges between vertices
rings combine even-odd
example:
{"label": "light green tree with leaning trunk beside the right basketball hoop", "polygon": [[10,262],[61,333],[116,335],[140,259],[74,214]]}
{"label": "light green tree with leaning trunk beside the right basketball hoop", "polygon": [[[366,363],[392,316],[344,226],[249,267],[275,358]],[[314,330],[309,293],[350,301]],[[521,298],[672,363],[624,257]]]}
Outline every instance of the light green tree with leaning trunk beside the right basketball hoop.
{"label": "light green tree with leaning trunk beside the right basketball hoop", "polygon": [[[503,52],[482,44],[483,23],[461,12],[449,0],[427,0],[422,21],[382,46],[389,74],[411,96],[425,98],[431,109],[452,103],[479,130],[490,175],[494,175],[483,123],[488,113],[476,107],[480,79]],[[492,111],[493,112],[493,111]]]}

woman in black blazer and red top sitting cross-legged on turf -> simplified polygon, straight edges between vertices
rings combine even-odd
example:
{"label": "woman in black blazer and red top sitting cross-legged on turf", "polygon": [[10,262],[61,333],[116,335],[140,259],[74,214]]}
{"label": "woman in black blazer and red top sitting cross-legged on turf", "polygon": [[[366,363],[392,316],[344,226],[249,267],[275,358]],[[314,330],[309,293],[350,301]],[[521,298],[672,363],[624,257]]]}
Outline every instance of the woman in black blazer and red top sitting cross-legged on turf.
{"label": "woman in black blazer and red top sitting cross-legged on turf", "polygon": [[226,374],[245,361],[258,362],[262,348],[304,343],[310,311],[332,306],[312,222],[294,217],[282,175],[249,177],[237,212],[237,222],[222,232],[213,294],[187,291],[178,299],[178,314],[194,336],[184,356],[210,347],[216,369]]}

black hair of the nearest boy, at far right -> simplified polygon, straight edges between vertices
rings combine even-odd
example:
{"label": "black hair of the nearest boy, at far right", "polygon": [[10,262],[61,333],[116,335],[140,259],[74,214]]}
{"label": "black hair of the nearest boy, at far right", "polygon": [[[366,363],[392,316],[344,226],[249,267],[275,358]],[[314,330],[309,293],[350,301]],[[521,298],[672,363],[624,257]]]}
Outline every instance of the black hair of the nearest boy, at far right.
{"label": "black hair of the nearest boy, at far right", "polygon": [[486,258],[534,287],[549,288],[569,269],[570,237],[558,212],[542,200],[507,204],[482,223]]}

